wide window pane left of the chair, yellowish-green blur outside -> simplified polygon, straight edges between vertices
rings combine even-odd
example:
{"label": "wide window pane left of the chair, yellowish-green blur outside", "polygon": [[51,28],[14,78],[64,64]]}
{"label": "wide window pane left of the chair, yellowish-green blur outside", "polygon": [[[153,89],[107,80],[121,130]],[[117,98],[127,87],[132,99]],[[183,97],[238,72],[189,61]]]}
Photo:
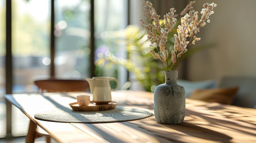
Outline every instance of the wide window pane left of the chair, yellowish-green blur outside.
{"label": "wide window pane left of the chair, yellowish-green blur outside", "polygon": [[12,2],[13,93],[36,92],[34,79],[49,75],[49,7],[49,0]]}

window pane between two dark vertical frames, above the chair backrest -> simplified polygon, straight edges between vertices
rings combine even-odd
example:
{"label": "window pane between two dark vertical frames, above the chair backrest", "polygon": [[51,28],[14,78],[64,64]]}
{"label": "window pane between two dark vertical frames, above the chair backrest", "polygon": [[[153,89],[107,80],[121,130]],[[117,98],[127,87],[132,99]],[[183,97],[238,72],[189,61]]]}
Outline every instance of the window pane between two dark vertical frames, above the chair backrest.
{"label": "window pane between two dark vertical frames, above the chair backrest", "polygon": [[56,57],[58,77],[90,76],[90,1],[58,0],[55,3]]}

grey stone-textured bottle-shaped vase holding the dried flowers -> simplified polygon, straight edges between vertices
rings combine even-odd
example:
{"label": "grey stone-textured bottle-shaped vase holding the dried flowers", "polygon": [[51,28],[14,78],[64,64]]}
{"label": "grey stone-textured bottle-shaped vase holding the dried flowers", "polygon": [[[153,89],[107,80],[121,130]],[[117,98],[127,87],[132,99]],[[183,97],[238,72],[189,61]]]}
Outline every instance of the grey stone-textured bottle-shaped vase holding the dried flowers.
{"label": "grey stone-textured bottle-shaped vase holding the dried flowers", "polygon": [[177,85],[177,70],[165,70],[164,74],[165,83],[157,86],[154,92],[155,119],[164,124],[182,123],[185,117],[185,90]]}

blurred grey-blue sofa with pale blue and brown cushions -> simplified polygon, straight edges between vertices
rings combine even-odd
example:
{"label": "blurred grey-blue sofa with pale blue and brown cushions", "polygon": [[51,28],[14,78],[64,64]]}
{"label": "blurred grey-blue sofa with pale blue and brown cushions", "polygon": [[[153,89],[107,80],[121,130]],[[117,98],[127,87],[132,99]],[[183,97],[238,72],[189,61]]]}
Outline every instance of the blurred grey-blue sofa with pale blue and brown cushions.
{"label": "blurred grey-blue sofa with pale blue and brown cushions", "polygon": [[256,109],[256,77],[224,76],[219,82],[178,79],[177,84],[184,87],[186,98]]}

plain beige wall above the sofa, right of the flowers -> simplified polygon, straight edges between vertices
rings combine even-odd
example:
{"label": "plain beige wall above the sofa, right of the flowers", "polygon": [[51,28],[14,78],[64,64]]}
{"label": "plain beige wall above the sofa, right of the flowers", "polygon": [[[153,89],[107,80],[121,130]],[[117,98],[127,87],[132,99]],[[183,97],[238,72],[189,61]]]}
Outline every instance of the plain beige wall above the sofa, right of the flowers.
{"label": "plain beige wall above the sofa, right of the flowers", "polygon": [[201,41],[216,46],[193,55],[188,62],[188,79],[218,79],[225,75],[256,77],[256,0],[196,0],[214,2],[211,23],[200,30]]}

